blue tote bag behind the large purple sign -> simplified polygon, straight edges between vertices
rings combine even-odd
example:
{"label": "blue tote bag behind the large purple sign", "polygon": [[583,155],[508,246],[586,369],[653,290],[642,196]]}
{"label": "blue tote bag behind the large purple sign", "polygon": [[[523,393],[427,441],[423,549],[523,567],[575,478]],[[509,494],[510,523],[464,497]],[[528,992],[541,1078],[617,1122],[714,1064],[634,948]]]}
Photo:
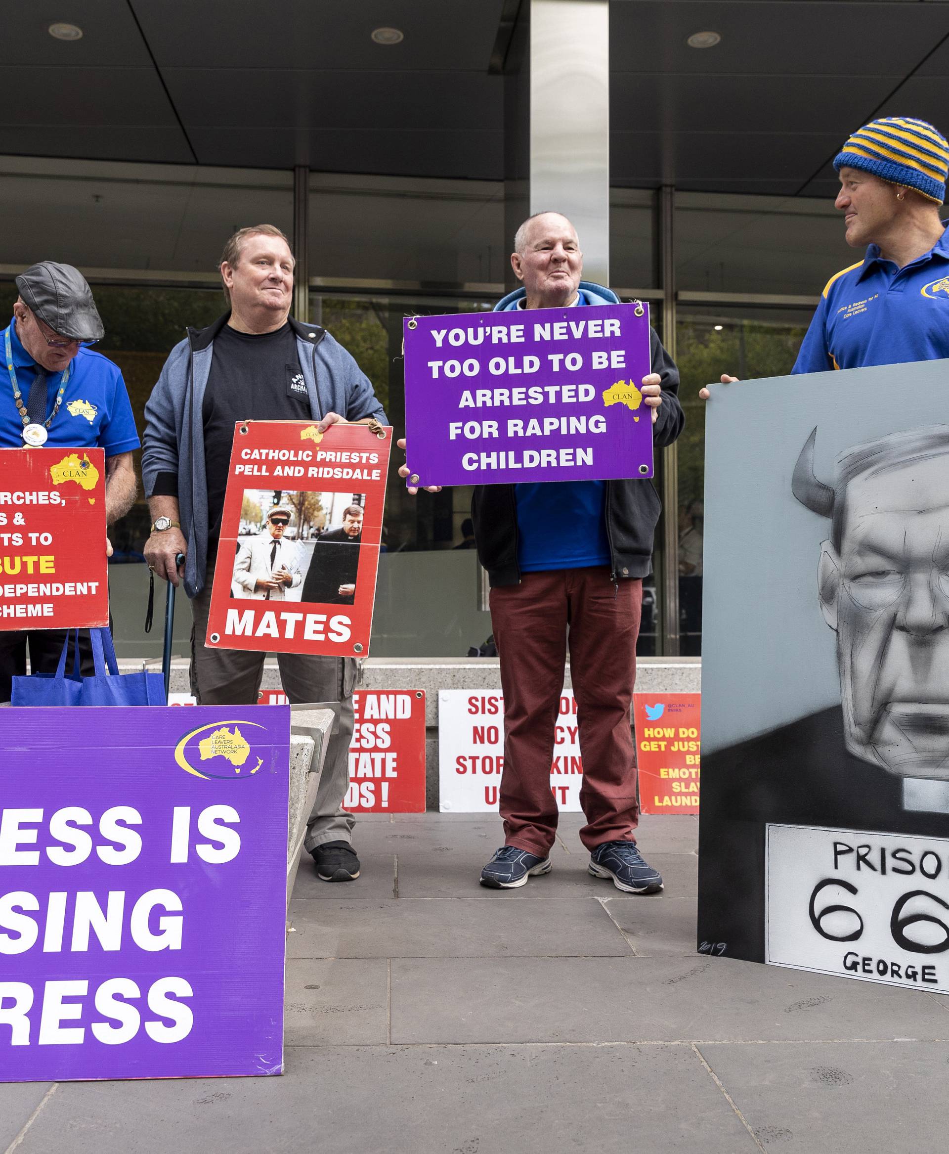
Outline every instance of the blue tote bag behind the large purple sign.
{"label": "blue tote bag behind the large purple sign", "polygon": [[[119,673],[115,646],[108,629],[90,629],[96,673],[80,673],[78,630],[66,635],[55,673],[33,673],[13,679],[10,705],[165,705],[165,680],[160,673]],[[66,673],[69,645],[74,643],[73,672]]]}

